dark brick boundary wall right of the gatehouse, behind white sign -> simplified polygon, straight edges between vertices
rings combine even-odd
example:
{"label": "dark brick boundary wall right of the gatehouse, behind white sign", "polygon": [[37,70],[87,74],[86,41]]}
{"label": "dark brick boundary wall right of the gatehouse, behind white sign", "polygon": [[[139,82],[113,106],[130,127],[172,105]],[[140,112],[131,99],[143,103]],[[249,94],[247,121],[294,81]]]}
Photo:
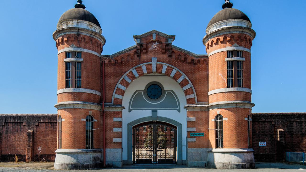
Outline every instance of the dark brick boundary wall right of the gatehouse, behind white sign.
{"label": "dark brick boundary wall right of the gatehouse, behind white sign", "polygon": [[285,161],[286,151],[306,152],[306,113],[253,113],[252,136],[257,162]]}

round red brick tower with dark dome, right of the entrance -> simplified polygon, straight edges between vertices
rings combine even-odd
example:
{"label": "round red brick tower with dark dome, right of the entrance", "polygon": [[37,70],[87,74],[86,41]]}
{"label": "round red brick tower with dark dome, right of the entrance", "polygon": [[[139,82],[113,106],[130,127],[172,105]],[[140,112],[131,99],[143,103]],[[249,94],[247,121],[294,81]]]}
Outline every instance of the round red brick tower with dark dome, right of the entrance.
{"label": "round red brick tower with dark dome, right of the entrance", "polygon": [[209,70],[208,166],[255,167],[252,149],[251,47],[255,31],[248,16],[225,0],[203,38]]}

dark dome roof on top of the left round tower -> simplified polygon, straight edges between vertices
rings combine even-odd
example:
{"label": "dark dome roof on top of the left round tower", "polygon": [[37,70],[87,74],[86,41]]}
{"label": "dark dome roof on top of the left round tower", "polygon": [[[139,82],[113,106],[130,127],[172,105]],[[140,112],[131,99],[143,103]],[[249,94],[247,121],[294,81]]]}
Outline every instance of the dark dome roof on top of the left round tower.
{"label": "dark dome roof on top of the left round tower", "polygon": [[91,14],[89,11],[83,8],[69,9],[61,16],[58,22],[68,19],[89,21],[93,24],[98,25],[99,28],[101,28],[97,18],[95,18],[93,14]]}

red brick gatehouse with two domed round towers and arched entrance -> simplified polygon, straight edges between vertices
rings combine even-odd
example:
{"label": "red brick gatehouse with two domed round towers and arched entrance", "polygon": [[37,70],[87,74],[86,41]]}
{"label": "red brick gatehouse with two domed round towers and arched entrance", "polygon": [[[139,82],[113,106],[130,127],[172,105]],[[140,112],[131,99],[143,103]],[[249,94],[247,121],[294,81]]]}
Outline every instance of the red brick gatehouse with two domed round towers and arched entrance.
{"label": "red brick gatehouse with two domed round towers and arched entrance", "polygon": [[[203,38],[208,55],[176,47],[175,36],[156,30],[133,36],[132,47],[101,55],[105,38],[99,21],[77,2],[53,33],[55,169],[138,163],[255,167],[251,47],[256,33],[243,12],[226,0]],[[54,139],[54,124],[50,127]],[[35,149],[29,144],[39,137],[22,130],[27,130],[25,159],[31,161],[38,141]]]}

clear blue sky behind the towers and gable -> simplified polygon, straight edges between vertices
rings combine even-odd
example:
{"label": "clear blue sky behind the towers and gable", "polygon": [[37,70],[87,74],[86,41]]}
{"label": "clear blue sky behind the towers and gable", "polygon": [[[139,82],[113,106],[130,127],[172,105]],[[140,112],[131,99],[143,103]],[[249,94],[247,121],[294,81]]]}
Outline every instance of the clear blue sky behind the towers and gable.
{"label": "clear blue sky behind the towers and gable", "polygon": [[[306,112],[304,0],[231,0],[250,18],[253,112]],[[57,49],[52,33],[76,0],[2,1],[0,113],[56,113]],[[174,45],[206,54],[202,39],[223,0],[84,0],[99,20],[103,54],[135,45],[153,29],[176,35]]]}

